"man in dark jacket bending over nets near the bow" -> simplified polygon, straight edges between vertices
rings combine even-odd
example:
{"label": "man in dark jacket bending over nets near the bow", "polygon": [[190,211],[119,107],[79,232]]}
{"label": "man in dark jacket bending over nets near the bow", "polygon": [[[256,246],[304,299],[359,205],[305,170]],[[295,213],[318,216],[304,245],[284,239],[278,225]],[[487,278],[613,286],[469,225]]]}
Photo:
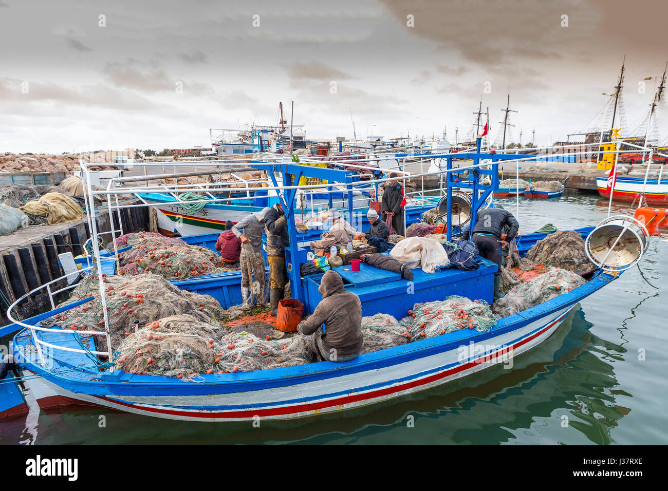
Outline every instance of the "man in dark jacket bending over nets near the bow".
{"label": "man in dark jacket bending over nets near the bow", "polygon": [[[504,226],[508,232],[504,233]],[[499,292],[501,283],[501,249],[515,238],[520,224],[512,213],[502,208],[486,208],[478,211],[476,226],[473,228],[473,242],[478,246],[480,255],[496,263],[498,269],[494,273],[494,299],[503,295]]]}

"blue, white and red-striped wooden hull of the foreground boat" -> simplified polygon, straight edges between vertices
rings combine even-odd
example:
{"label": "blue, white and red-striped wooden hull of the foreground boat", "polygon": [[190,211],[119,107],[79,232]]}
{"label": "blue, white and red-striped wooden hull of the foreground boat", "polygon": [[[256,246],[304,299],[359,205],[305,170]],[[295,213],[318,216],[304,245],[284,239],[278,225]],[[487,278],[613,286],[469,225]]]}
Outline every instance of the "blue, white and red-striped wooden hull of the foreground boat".
{"label": "blue, white and red-striped wooden hull of the foreground boat", "polygon": [[[449,383],[548,339],[573,307],[616,276],[601,273],[555,299],[501,319],[489,333],[463,329],[423,341],[365,353],[347,363],[329,361],[246,373],[202,375],[194,381],[122,371],[57,373],[23,362],[29,334],[15,337],[25,383],[41,401],[62,407],[98,405],[172,420],[229,422],[294,419],[342,412]],[[43,375],[30,377],[30,375]]]}

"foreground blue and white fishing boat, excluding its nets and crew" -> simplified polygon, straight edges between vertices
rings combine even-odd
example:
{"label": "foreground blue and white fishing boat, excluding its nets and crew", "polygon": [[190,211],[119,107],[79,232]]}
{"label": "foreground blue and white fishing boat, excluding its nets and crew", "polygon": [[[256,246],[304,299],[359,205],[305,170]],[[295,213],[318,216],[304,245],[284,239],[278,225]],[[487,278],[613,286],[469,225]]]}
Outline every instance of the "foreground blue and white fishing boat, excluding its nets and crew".
{"label": "foreground blue and white fishing boat, excluding its nets and crew", "polygon": [[[481,153],[478,140],[477,152],[447,154],[444,158],[448,161],[444,170],[448,184],[447,208],[452,209],[456,188],[467,188],[472,192],[471,216],[474,223],[476,211],[498,186],[498,160],[511,157]],[[452,167],[452,160],[456,158],[472,159],[470,168],[474,176],[489,176],[490,184],[481,184],[478,178],[456,182]],[[480,168],[480,159],[491,159],[490,168]],[[257,165],[263,168],[277,164]],[[295,180],[307,175],[352,183],[351,173],[344,170],[305,169],[303,166],[281,164],[281,172],[284,184],[289,182],[288,175],[295,176]],[[294,212],[291,206],[294,200],[295,188],[287,189],[283,206],[289,218]],[[293,220],[289,220],[291,222]],[[447,222],[450,240],[454,231],[451,212],[448,212]],[[625,269],[639,261],[646,249],[647,238],[639,241],[639,246],[634,249],[629,244],[633,236],[637,237],[637,230],[632,228],[630,223],[617,218],[616,222],[611,220],[593,229],[578,230],[582,236],[587,236],[597,270],[587,283],[572,291],[504,317],[486,331],[460,329],[364,353],[345,363],[320,361],[293,367],[212,373],[194,379],[126,373],[114,368],[113,363],[99,362],[98,356],[104,357],[108,353],[96,351],[94,337],[104,335],[108,332],[106,329],[94,333],[49,329],[39,325],[48,317],[91,301],[84,298],[30,319],[15,319],[13,325],[0,329],[0,335],[18,331],[12,341],[14,364],[3,365],[5,371],[7,368],[14,369],[16,377],[5,377],[0,383],[0,416],[21,414],[23,399],[16,385],[19,380],[32,391],[43,409],[93,405],[173,420],[210,422],[256,418],[283,420],[343,412],[449,383],[495,363],[503,363],[508,356],[528,351],[548,339],[578,303],[607,287]],[[631,235],[627,236],[629,231]],[[614,232],[619,234],[616,240]],[[614,243],[606,252],[604,244],[610,242],[611,233]],[[319,301],[317,287],[320,275],[302,278],[299,274],[299,264],[306,251],[299,245],[297,235],[295,226],[290,226],[291,245],[286,251],[286,259],[291,291],[293,298],[301,300],[306,310],[312,312]],[[526,253],[536,240],[544,236],[531,234],[522,237],[518,241],[520,254]],[[609,257],[618,244],[631,254],[631,259],[615,253],[617,262],[613,264],[609,262]],[[96,261],[99,268],[100,260],[96,258]],[[476,262],[478,269],[475,271],[446,267],[436,273],[424,273],[421,269],[414,269],[410,282],[398,273],[370,266],[355,273],[346,271],[345,267],[339,267],[337,271],[345,281],[345,289],[359,296],[363,315],[387,313],[403,317],[415,303],[442,301],[449,295],[491,303],[496,265],[481,257],[476,258]],[[177,285],[189,291],[198,291],[198,285],[204,288],[206,279],[178,282]],[[210,294],[218,301],[224,301],[215,292]]]}

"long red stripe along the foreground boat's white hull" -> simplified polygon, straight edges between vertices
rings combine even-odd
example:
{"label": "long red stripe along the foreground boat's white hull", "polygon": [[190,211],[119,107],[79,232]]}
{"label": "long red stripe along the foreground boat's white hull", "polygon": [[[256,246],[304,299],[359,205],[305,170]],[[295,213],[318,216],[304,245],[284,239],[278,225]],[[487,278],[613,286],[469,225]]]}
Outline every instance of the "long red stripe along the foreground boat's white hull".
{"label": "long red stripe along the foreground boat's white hull", "polygon": [[[572,307],[571,307],[572,308]],[[568,312],[570,312],[571,309],[568,309],[564,315],[556,319],[554,322],[546,325],[543,329],[540,329],[540,331],[536,332],[534,335],[527,337],[526,339],[523,339],[522,341],[518,341],[512,347],[508,347],[506,350],[510,351],[510,349],[516,349],[529,341],[532,341],[533,339],[536,339],[536,337],[540,336],[542,333],[550,329],[554,324],[558,323],[561,319],[566,317],[568,315]],[[395,392],[399,391],[404,391],[407,389],[411,389],[413,387],[419,387],[420,385],[426,385],[428,383],[432,383],[434,381],[443,379],[445,377],[448,377],[449,375],[454,375],[455,373],[459,373],[460,371],[467,370],[469,368],[472,368],[476,365],[479,365],[482,363],[482,361],[491,361],[492,359],[496,358],[499,356],[499,353],[496,353],[495,355],[488,355],[484,359],[480,359],[478,361],[471,361],[470,363],[466,363],[464,365],[459,365],[457,367],[454,367],[450,370],[442,371],[441,373],[435,373],[434,375],[430,375],[429,377],[425,377],[424,379],[420,380],[413,380],[407,383],[403,383],[401,385],[395,385],[393,387],[385,387],[384,389],[378,389],[375,391],[371,392],[365,392],[365,393],[359,393],[355,395],[347,395],[345,397],[339,397],[337,399],[329,399],[327,401],[321,401],[321,402],[313,402],[309,404],[300,404],[300,405],[291,405],[291,406],[285,406],[285,407],[269,407],[267,409],[257,409],[257,410],[242,410],[242,411],[230,411],[230,412],[191,412],[191,411],[179,411],[179,410],[164,410],[159,407],[146,407],[142,405],[136,405],[136,404],[129,404],[123,401],[118,401],[116,399],[109,399],[108,397],[104,396],[96,396],[99,397],[100,399],[104,399],[105,401],[109,401],[112,403],[124,405],[125,407],[134,407],[136,409],[140,409],[142,411],[146,412],[152,412],[152,413],[160,413],[160,414],[170,414],[172,416],[185,416],[185,417],[190,417],[190,418],[253,418],[253,416],[283,416],[285,414],[292,414],[292,413],[298,413],[298,412],[305,412],[305,411],[315,411],[315,410],[320,410],[323,409],[323,407],[332,407],[334,405],[343,405],[343,404],[349,404],[353,402],[358,402],[358,401],[363,401],[365,399],[375,399],[376,397],[383,397],[383,395],[390,395]]]}

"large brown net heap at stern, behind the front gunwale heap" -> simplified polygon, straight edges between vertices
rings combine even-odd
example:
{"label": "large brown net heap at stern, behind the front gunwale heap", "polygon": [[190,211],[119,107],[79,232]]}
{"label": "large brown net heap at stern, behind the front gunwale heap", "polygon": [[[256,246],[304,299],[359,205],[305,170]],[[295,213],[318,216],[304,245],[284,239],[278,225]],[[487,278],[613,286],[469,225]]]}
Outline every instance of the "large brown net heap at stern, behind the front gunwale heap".
{"label": "large brown net heap at stern, behind the front gunwale heap", "polygon": [[[228,317],[216,299],[180,290],[161,276],[114,275],[102,273],[112,348],[120,346],[123,339],[135,331],[170,315],[188,313],[194,319],[212,323]],[[92,297],[92,300],[74,307],[61,315],[43,321],[43,325],[58,324],[75,331],[104,331],[102,299],[97,275],[86,275],[69,299],[62,305]],[[98,336],[98,349],[106,351],[106,338]]]}

